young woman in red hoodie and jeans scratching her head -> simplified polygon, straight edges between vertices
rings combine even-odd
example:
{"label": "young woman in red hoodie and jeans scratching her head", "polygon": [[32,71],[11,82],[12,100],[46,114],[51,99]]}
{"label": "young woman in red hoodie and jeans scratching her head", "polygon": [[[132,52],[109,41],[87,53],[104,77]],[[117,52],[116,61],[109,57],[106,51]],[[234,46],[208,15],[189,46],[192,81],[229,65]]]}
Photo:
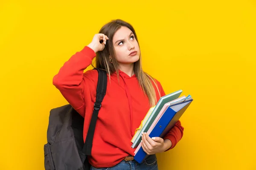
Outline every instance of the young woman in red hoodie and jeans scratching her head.
{"label": "young woman in red hoodie and jeans scratching her head", "polygon": [[[103,41],[103,42],[100,42]],[[165,93],[156,79],[141,66],[141,54],[134,28],[123,20],[105,24],[92,42],[76,52],[53,78],[53,84],[84,119],[87,136],[96,100],[98,72],[84,70],[96,57],[96,68],[108,73],[108,84],[93,137],[92,170],[157,170],[155,153],[175,147],[183,136],[178,121],[162,139],[143,133],[142,146],[148,158],[134,160],[131,139],[151,106]]]}

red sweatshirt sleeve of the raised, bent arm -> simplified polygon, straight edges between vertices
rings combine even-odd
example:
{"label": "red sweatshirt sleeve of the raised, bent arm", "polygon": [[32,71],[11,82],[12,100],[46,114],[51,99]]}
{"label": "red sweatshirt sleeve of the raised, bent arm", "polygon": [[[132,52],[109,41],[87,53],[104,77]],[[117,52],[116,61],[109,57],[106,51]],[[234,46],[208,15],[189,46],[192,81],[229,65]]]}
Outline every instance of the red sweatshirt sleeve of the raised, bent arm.
{"label": "red sweatshirt sleeve of the raised, bent arm", "polygon": [[64,63],[52,80],[53,85],[58,88],[67,102],[83,117],[87,90],[84,70],[92,63],[95,56],[95,52],[85,46]]}

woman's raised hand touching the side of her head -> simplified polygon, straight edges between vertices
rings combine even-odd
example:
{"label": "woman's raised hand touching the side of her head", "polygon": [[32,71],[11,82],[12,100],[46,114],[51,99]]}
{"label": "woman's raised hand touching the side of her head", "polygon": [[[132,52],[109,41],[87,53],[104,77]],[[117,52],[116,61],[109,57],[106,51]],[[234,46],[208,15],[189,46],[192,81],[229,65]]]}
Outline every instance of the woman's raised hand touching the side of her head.
{"label": "woman's raised hand touching the side of her head", "polygon": [[[103,40],[102,43],[100,43],[101,40]],[[98,51],[102,51],[105,48],[107,40],[109,40],[109,38],[106,35],[95,34],[93,36],[92,42],[87,46],[90,47],[91,49],[93,49],[93,51],[96,53]]]}

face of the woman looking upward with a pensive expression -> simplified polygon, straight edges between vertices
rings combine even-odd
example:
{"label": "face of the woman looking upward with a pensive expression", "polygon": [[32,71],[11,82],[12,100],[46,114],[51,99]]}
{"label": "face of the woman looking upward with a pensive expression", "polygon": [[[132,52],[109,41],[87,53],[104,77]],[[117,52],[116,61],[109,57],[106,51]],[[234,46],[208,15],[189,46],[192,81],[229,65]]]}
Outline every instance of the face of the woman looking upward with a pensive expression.
{"label": "face of the woman looking upward with a pensive expression", "polygon": [[[113,36],[113,46],[119,65],[127,65],[140,59],[140,47],[133,32],[122,26]],[[137,51],[131,54],[131,52]]]}

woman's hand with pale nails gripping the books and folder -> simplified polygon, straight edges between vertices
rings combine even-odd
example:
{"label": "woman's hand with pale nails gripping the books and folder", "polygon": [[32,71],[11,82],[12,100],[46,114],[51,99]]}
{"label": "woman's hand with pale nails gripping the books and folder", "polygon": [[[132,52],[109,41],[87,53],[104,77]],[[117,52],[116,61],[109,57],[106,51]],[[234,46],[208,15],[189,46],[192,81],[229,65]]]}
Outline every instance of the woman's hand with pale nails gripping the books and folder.
{"label": "woman's hand with pale nails gripping the books and folder", "polygon": [[142,135],[141,147],[148,155],[164,152],[166,148],[163,138],[150,138],[147,133],[143,133]]}

